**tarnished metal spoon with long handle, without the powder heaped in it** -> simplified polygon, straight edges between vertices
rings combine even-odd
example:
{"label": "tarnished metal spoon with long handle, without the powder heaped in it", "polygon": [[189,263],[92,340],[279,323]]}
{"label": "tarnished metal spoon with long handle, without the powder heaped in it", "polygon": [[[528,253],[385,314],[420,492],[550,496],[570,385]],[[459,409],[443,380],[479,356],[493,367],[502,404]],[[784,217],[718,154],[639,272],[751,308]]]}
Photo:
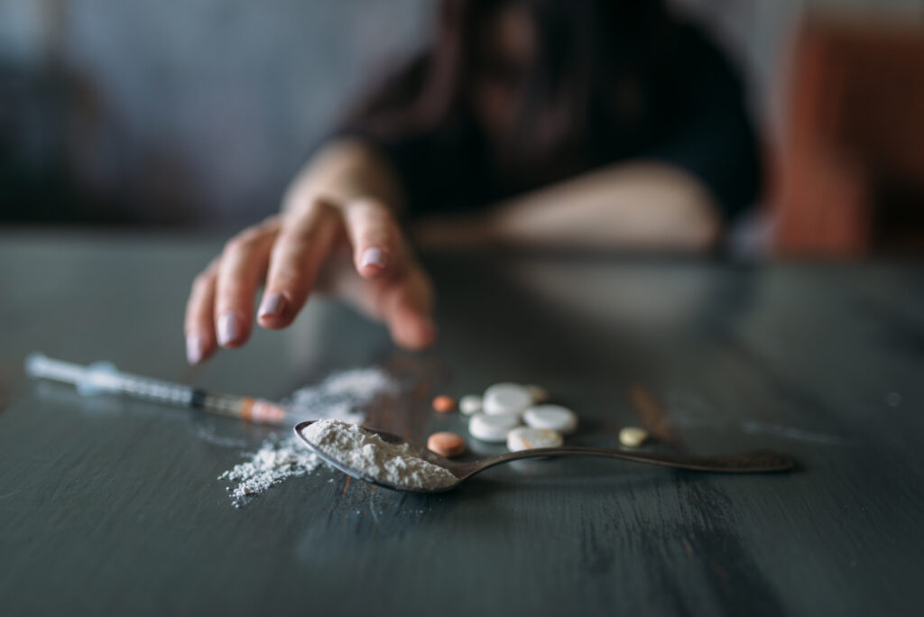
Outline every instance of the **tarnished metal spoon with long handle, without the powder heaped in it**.
{"label": "tarnished metal spoon with long handle, without the powder heaped in it", "polygon": [[626,452],[625,450],[615,450],[613,448],[591,448],[585,446],[565,445],[557,448],[533,448],[532,450],[521,450],[508,454],[499,454],[490,458],[483,458],[480,461],[469,461],[468,463],[459,463],[444,458],[439,454],[434,454],[417,443],[408,442],[407,440],[384,432],[383,430],[367,429],[382,438],[383,442],[393,443],[395,445],[407,444],[410,454],[419,456],[436,466],[441,466],[456,477],[456,483],[449,486],[443,486],[436,489],[421,489],[418,487],[407,487],[396,485],[383,478],[375,478],[365,474],[358,469],[347,466],[330,454],[322,451],[312,442],[301,434],[302,429],[313,424],[317,420],[299,422],[295,427],[295,433],[301,441],[308,444],[314,454],[321,457],[322,461],[344,472],[347,476],[359,478],[372,484],[393,490],[407,490],[410,492],[443,492],[444,490],[455,489],[459,484],[471,478],[475,474],[480,474],[485,469],[493,466],[503,465],[510,461],[517,461],[524,458],[542,458],[546,456],[603,456],[608,458],[620,458],[626,461],[635,461],[636,463],[649,463],[650,465],[661,465],[665,467],[676,467],[678,469],[692,469],[695,471],[716,471],[723,473],[759,473],[768,471],[785,471],[795,465],[792,459],[786,458],[783,454],[777,454],[772,450],[755,450],[752,452],[743,452],[739,454],[720,454],[718,456],[687,456],[684,454],[654,454],[647,452]]}

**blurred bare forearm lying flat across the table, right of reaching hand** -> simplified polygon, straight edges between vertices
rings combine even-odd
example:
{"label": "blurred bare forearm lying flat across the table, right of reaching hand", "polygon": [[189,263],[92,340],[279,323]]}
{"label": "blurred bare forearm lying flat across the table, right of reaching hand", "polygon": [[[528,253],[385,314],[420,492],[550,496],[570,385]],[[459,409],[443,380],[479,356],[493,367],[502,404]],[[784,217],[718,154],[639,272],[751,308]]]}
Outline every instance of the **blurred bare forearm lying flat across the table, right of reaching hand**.
{"label": "blurred bare forearm lying flat across the table, right of reaching hand", "polygon": [[600,170],[507,200],[482,214],[431,220],[427,245],[516,244],[699,251],[721,231],[718,212],[695,177],[663,163]]}

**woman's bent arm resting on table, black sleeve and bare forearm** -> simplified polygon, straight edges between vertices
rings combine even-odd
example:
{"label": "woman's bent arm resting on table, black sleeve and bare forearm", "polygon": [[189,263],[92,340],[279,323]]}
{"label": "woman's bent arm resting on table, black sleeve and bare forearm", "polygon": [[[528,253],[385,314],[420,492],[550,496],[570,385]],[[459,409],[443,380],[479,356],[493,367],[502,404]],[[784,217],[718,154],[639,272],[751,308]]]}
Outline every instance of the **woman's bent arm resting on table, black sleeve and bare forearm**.
{"label": "woman's bent arm resting on table, black sleeve and bare forearm", "polygon": [[736,70],[699,30],[681,30],[656,83],[663,129],[629,161],[496,204],[431,220],[421,243],[699,251],[757,199],[760,157]]}

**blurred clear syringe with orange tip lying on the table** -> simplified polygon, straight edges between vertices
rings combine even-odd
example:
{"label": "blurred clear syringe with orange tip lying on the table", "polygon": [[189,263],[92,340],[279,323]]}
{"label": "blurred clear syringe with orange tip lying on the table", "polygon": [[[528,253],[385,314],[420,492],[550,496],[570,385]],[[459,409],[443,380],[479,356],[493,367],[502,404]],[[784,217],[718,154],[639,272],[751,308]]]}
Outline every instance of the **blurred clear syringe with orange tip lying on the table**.
{"label": "blurred clear syringe with orange tip lying on the table", "polygon": [[123,394],[155,403],[201,409],[220,416],[238,417],[249,422],[279,424],[286,419],[281,405],[250,396],[209,393],[181,383],[153,380],[120,372],[111,362],[81,366],[42,354],[26,358],[26,374],[36,379],[72,383],[81,394]]}

